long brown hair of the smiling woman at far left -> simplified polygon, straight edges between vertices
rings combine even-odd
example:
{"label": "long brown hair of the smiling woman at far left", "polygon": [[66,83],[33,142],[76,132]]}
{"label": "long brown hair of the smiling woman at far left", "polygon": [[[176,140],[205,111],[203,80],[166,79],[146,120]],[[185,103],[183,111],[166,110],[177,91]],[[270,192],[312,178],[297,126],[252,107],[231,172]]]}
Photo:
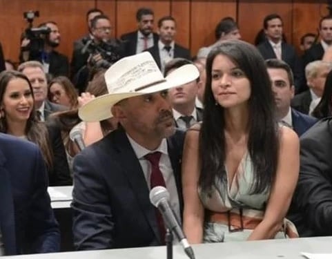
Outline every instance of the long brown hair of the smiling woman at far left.
{"label": "long brown hair of the smiling woman at far left", "polygon": [[[20,78],[25,80],[32,93],[32,98],[35,101],[35,97],[33,96],[32,86],[30,81],[26,75],[23,75],[20,72],[10,70],[3,71],[0,73],[0,104],[3,103],[3,95],[6,92],[7,86],[12,79]],[[6,115],[0,118],[0,132],[8,133],[8,124],[6,120]],[[35,107],[32,107],[32,112],[28,117],[28,121],[25,128],[26,138],[30,142],[34,142],[41,149],[41,154],[43,155],[43,159],[50,169],[53,165],[53,154],[52,148],[50,146],[50,142],[48,139],[48,130],[46,125],[43,122],[39,122],[37,119]]]}

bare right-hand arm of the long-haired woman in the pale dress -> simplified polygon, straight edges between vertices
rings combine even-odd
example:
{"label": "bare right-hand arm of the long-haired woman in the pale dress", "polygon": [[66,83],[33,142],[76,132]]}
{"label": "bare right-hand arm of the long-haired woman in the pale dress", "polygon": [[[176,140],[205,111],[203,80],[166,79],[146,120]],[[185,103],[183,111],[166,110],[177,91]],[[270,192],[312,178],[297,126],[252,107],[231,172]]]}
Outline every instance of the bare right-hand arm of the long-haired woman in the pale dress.
{"label": "bare right-hand arm of the long-haired woman in the pale dress", "polygon": [[280,151],[275,181],[271,186],[270,198],[266,206],[264,218],[254,229],[248,240],[274,238],[280,231],[300,171],[300,144],[294,131],[280,128]]}

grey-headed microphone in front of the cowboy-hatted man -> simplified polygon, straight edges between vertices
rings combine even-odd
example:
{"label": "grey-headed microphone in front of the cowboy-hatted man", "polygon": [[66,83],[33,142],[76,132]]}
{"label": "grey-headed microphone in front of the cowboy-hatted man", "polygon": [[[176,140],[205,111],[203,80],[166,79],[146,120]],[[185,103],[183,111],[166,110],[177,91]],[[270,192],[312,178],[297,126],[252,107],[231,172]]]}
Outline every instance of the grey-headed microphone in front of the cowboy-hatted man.
{"label": "grey-headed microphone in front of the cowboy-hatted man", "polygon": [[179,222],[177,222],[173,210],[170,209],[169,199],[170,195],[164,186],[155,186],[150,191],[150,202],[159,209],[160,213],[162,213],[166,226],[170,231],[175,233],[175,236],[182,244],[186,255],[191,259],[195,259],[193,248],[188,243],[186,236],[184,236],[184,232],[182,231]]}

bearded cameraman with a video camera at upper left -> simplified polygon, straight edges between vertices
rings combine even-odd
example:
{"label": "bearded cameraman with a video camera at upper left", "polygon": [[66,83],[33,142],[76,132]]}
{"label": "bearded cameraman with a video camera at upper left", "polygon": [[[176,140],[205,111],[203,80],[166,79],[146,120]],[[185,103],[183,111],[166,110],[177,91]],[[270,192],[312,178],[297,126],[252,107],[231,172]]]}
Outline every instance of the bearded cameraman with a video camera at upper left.
{"label": "bearded cameraman with a video camera at upper left", "polygon": [[57,23],[41,23],[40,30],[28,29],[21,41],[20,61],[37,60],[43,64],[45,73],[57,77],[69,75],[68,57],[55,49],[60,44],[60,32]]}

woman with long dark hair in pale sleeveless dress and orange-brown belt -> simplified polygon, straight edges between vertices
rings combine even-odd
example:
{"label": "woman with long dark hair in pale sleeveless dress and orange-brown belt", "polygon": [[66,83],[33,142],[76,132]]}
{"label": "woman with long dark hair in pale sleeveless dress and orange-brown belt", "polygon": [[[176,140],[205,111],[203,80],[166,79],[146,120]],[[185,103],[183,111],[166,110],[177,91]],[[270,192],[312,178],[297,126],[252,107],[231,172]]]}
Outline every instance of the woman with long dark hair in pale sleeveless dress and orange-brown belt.
{"label": "woman with long dark hair in pale sleeveless dress and orange-brown belt", "polygon": [[190,242],[297,236],[285,215],[299,140],[277,124],[264,59],[251,44],[224,41],[208,55],[203,122],[186,135],[182,166]]}

